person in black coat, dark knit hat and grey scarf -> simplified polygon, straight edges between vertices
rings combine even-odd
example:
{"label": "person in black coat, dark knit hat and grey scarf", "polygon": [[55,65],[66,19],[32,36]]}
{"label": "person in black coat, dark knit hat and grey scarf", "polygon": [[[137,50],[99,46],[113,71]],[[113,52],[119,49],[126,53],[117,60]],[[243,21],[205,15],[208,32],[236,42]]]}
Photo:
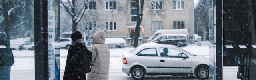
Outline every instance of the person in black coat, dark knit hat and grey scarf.
{"label": "person in black coat, dark knit hat and grey scarf", "polygon": [[63,80],[86,80],[86,74],[78,72],[78,68],[81,67],[78,60],[78,52],[80,49],[88,49],[83,45],[82,34],[79,31],[73,32],[71,39],[72,45],[68,50]]}

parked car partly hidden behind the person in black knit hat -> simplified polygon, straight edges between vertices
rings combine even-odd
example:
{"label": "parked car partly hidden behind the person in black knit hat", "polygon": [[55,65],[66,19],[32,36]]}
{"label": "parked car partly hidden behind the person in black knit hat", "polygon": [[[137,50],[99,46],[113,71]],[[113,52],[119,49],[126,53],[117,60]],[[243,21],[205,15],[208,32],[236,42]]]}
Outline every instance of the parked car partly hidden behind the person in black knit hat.
{"label": "parked car partly hidden behind the person in black knit hat", "polygon": [[69,49],[69,46],[72,44],[71,38],[60,38],[60,48]]}

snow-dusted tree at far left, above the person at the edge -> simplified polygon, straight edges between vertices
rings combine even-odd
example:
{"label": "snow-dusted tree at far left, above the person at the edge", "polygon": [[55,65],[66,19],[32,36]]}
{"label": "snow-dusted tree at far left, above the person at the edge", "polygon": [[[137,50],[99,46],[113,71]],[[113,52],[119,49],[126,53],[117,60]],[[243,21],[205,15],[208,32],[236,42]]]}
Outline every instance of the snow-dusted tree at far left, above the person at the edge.
{"label": "snow-dusted tree at far left, above the person at the edge", "polygon": [[[21,11],[26,5],[23,0],[2,0],[2,14],[4,21],[1,24],[7,37],[7,45],[10,45],[10,32],[20,27],[24,21],[20,21],[19,15],[16,12]],[[16,13],[16,14],[15,14]]]}

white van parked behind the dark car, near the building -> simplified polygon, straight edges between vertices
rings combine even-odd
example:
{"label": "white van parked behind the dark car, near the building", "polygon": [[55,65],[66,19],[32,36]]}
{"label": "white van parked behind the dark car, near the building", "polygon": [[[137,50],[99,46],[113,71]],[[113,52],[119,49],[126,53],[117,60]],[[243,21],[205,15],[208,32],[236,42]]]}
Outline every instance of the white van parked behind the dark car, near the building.
{"label": "white van parked behind the dark car, near the building", "polygon": [[150,42],[162,34],[186,34],[188,39],[188,29],[171,29],[171,30],[158,30],[151,36],[147,42]]}

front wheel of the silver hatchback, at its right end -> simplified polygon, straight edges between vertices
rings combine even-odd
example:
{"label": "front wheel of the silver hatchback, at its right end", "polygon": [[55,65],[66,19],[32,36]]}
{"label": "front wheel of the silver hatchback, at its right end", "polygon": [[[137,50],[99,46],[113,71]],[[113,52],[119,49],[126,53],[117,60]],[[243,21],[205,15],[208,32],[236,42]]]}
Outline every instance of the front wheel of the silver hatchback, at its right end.
{"label": "front wheel of the silver hatchback, at its right end", "polygon": [[201,80],[209,79],[209,67],[206,65],[198,66],[196,69],[196,78]]}

